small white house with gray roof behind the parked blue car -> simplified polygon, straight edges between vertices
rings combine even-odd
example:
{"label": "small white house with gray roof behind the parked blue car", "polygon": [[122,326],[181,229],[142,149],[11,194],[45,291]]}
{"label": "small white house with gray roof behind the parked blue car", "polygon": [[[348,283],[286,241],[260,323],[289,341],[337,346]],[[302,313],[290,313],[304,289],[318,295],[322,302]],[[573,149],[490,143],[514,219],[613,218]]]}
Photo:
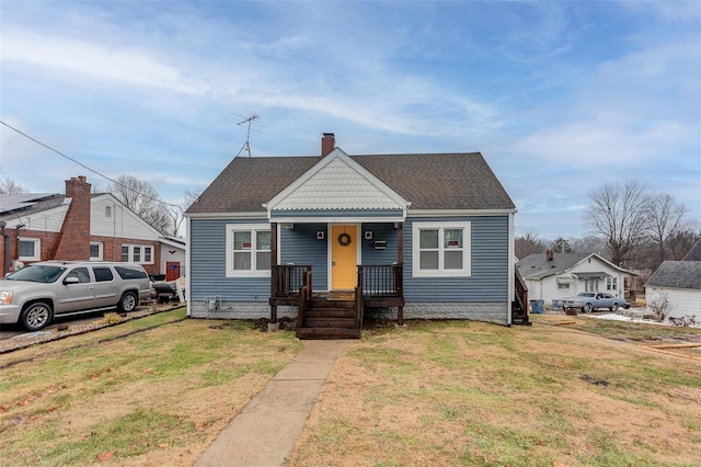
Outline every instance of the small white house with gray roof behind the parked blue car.
{"label": "small white house with gray roof behind the parked blue car", "polygon": [[[608,292],[625,298],[627,284],[639,275],[619,267],[597,253],[533,253],[516,267],[528,287],[528,298],[558,308],[558,301],[579,292]],[[553,304],[554,300],[554,304]]]}

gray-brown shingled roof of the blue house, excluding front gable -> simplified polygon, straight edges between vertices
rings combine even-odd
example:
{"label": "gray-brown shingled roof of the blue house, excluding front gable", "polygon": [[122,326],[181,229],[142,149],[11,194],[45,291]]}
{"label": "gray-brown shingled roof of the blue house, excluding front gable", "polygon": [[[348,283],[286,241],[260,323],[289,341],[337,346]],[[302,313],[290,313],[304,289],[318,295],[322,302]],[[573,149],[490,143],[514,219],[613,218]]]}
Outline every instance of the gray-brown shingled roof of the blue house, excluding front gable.
{"label": "gray-brown shingled roof of the blue house, excluding front gable", "polygon": [[[411,209],[514,209],[480,152],[352,156],[411,202]],[[186,214],[265,212],[319,157],[235,158]]]}

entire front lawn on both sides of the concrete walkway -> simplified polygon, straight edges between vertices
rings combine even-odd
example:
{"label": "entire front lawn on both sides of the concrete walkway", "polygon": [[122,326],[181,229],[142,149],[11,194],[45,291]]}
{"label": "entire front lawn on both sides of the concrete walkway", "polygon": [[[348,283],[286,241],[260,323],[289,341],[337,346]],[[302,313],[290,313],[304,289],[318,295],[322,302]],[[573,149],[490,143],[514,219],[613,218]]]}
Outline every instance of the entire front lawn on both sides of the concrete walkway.
{"label": "entire front lawn on both sides of the concrete walkway", "polygon": [[[0,355],[0,465],[191,466],[302,348],[183,317]],[[701,330],[559,319],[366,329],[288,465],[701,465],[701,362],[645,348]]]}

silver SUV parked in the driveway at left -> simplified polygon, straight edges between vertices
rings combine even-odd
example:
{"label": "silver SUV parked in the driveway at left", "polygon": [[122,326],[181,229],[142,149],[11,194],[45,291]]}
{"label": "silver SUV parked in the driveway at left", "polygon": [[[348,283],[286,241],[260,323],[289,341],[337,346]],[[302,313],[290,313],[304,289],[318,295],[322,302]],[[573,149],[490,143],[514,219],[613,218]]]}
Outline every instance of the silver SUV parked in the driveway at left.
{"label": "silver SUV parked in the driveway at left", "polygon": [[128,312],[150,293],[139,264],[42,261],[0,280],[0,323],[36,331],[59,315],[114,307]]}

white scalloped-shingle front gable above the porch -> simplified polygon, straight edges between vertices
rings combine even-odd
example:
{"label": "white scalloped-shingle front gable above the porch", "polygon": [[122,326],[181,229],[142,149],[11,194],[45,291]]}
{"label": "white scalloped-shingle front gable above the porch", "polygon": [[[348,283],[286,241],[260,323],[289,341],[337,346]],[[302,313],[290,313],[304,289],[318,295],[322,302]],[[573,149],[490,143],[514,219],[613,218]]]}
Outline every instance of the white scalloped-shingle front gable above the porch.
{"label": "white scalloped-shingle front gable above the porch", "polygon": [[410,203],[336,148],[278,193],[267,216],[276,221],[338,217],[402,221]]}

